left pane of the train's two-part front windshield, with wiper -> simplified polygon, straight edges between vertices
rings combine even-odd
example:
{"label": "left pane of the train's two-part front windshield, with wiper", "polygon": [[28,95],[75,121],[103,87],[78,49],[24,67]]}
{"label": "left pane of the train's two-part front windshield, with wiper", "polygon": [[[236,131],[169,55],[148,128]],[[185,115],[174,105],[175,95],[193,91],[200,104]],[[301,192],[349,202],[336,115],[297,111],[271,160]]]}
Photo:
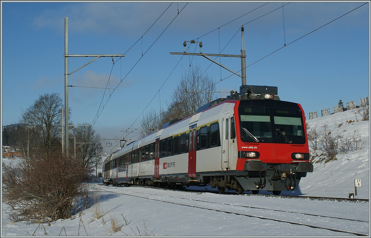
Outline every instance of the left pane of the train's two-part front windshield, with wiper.
{"label": "left pane of the train's two-part front windshield, with wiper", "polygon": [[257,138],[272,138],[269,108],[241,107],[241,136],[248,141],[257,142]]}

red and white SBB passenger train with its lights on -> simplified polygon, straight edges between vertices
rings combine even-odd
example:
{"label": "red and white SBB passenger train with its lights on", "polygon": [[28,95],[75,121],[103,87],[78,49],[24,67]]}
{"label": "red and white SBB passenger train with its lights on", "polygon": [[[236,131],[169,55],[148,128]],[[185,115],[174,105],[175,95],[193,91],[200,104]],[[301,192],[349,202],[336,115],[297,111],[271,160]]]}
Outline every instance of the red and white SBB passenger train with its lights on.
{"label": "red and white SBB passenger train with its lights on", "polygon": [[305,113],[275,86],[242,85],[187,118],[107,157],[102,181],[114,186],[211,186],[220,194],[296,191],[313,172]]}

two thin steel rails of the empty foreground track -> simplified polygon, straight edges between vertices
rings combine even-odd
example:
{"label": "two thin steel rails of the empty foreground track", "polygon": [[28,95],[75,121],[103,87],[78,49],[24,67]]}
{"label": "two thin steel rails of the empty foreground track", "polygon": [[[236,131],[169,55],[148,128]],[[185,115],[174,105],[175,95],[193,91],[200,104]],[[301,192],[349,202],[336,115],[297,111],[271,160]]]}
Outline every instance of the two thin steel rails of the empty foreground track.
{"label": "two thin steel rails of the empty foreground track", "polygon": [[[126,194],[126,193],[123,193],[123,192],[112,191],[112,190],[116,190],[116,188],[106,187],[106,188],[99,188],[99,189],[102,190],[102,191],[106,191],[106,192],[112,192],[112,193],[122,194],[122,195],[127,195],[127,196],[134,196],[134,197],[137,197],[137,198],[144,198],[144,199],[149,199],[149,200],[152,200],[152,201],[166,202],[166,203],[170,203],[170,204],[176,204],[176,205],[182,205],[182,206],[189,206],[189,207],[193,207],[193,208],[207,209],[207,210],[210,210],[210,211],[224,212],[224,213],[227,213],[227,214],[243,215],[243,216],[248,216],[248,217],[253,217],[253,218],[266,219],[266,220],[270,220],[270,221],[285,222],[285,223],[289,223],[289,224],[293,224],[293,225],[303,225],[303,226],[306,226],[306,227],[326,229],[326,230],[329,230],[329,231],[343,232],[343,233],[354,234],[354,235],[358,235],[358,236],[368,236],[367,234],[359,234],[357,232],[342,231],[342,230],[332,229],[332,228],[326,228],[326,227],[318,227],[318,226],[310,225],[310,224],[301,224],[301,223],[298,223],[298,222],[283,221],[283,220],[279,220],[279,219],[266,218],[266,217],[262,217],[262,216],[249,215],[249,214],[243,214],[243,213],[232,212],[232,211],[223,211],[223,210],[220,210],[220,209],[207,208],[207,207],[203,207],[203,206],[196,206],[196,205],[189,205],[189,204],[181,204],[181,203],[178,203],[178,202],[170,202],[170,201],[164,201],[164,200],[155,199],[155,198],[147,198],[147,197],[143,197],[143,196],[139,196],[139,195],[132,195],[132,194]],[[165,195],[159,195],[159,194],[150,194],[150,193],[135,192],[135,191],[129,191],[129,192],[137,193],[137,194],[146,194],[146,195],[164,196],[165,197]],[[275,211],[275,212],[288,212],[288,213],[292,213],[292,214],[300,214],[300,215],[308,215],[308,216],[319,216],[319,217],[325,217],[325,218],[331,218],[331,219],[342,219],[342,220],[348,220],[348,221],[369,223],[368,221],[348,219],[348,218],[338,218],[338,217],[324,216],[324,215],[305,214],[305,213],[300,213],[300,212],[290,212],[290,211],[282,211],[282,210],[277,210],[277,209],[258,208],[258,207],[243,206],[243,205],[236,205],[236,204],[226,204],[226,203],[220,203],[220,202],[203,201],[203,200],[198,200],[198,199],[179,198],[179,197],[175,197],[175,196],[166,196],[166,197],[177,198],[177,199],[185,199],[185,200],[191,200],[191,201],[197,201],[197,202],[204,202],[204,203],[211,203],[211,204],[230,205],[230,206],[236,206],[236,207],[241,207],[241,208],[262,209],[262,210],[270,210],[270,211]]]}

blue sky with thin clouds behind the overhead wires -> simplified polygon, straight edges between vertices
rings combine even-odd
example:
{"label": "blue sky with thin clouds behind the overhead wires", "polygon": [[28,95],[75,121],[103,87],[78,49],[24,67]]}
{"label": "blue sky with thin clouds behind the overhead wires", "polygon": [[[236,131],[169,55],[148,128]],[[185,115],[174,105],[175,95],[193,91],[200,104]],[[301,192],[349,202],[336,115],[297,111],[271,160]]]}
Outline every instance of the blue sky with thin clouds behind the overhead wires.
{"label": "blue sky with thin clouds behind the overhead wires", "polygon": [[[210,66],[211,62],[200,56],[181,59],[180,55],[169,54],[183,52],[185,40],[202,41],[203,53],[219,53],[220,44],[221,49],[227,45],[222,53],[240,54],[241,34],[234,34],[244,24],[246,65],[250,65],[282,47],[284,42],[289,44],[365,2],[289,3],[284,7],[285,38],[282,9],[273,11],[282,2],[265,3],[2,2],[1,123],[17,122],[21,109],[28,108],[44,93],[60,93],[64,99],[64,17],[69,20],[69,54],[125,53],[122,59],[114,59],[117,61],[113,67],[111,58],[102,57],[69,76],[69,85],[105,87],[109,79],[110,88],[117,86],[111,93],[105,92],[103,110],[99,105],[104,89],[69,87],[73,123],[95,122],[93,129],[102,138],[135,139],[137,134],[126,136],[121,130],[139,128],[141,113],[156,93],[145,112],[158,110],[160,105],[166,107],[182,70],[187,71],[190,64],[203,71]],[[259,6],[262,7],[252,11]],[[246,14],[249,11],[252,12]],[[266,13],[269,14],[263,16]],[[367,3],[260,60],[246,69],[247,84],[277,86],[280,99],[300,103],[307,118],[315,110],[319,115],[325,108],[332,112],[339,99],[344,105],[352,100],[359,105],[359,98],[370,94],[369,14]],[[203,36],[208,32],[211,33]],[[194,51],[199,52],[198,45],[196,48],[192,45],[190,52]],[[70,58],[69,72],[91,59]],[[235,72],[240,70],[239,58],[223,57],[221,63]],[[215,82],[231,74],[225,69],[220,71],[215,64],[205,73]],[[231,76],[217,83],[216,89],[229,92],[239,90],[240,85],[241,79]],[[222,97],[227,95],[220,93]],[[97,112],[100,116],[95,120]],[[102,143],[108,142],[114,141]]]}

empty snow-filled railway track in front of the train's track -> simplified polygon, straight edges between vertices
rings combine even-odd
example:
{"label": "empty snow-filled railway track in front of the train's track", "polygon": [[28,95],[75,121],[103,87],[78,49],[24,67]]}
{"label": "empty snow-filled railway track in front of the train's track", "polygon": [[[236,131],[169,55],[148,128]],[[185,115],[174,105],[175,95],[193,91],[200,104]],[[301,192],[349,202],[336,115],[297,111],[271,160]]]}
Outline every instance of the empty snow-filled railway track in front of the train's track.
{"label": "empty snow-filled railway track in front of the train's track", "polygon": [[[259,219],[276,221],[276,222],[285,222],[285,223],[293,224],[293,225],[301,225],[301,226],[306,226],[310,228],[326,229],[329,231],[342,232],[346,234],[368,236],[368,234],[363,234],[367,232],[357,232],[357,228],[364,227],[364,226],[368,227],[369,222],[357,220],[357,219],[341,218],[341,217],[318,215],[318,214],[308,214],[308,213],[293,212],[293,211],[282,211],[282,210],[271,209],[271,208],[259,208],[259,207],[254,207],[254,206],[228,204],[224,202],[204,201],[200,199],[181,198],[177,196],[160,195],[160,194],[154,194],[154,193],[125,191],[124,189],[119,189],[118,187],[103,187],[102,188],[102,186],[99,186],[98,189],[102,191],[106,191],[106,192],[116,193],[116,194],[134,196],[134,197],[143,198],[143,199],[150,199],[152,201],[165,202],[165,203],[188,206],[188,207],[199,208],[199,209],[207,209],[210,211],[224,212],[227,214],[243,215],[247,217],[259,218]],[[269,214],[268,217],[261,216],[259,215],[259,213],[261,213],[262,211],[269,211],[271,214]],[[298,218],[298,216],[300,217]],[[280,219],[282,217],[285,219]],[[341,225],[342,222],[343,223],[346,222],[348,230],[344,229],[344,227]],[[321,224],[321,225],[318,225],[318,224]],[[337,225],[333,227],[325,227],[323,224],[337,224]]]}

